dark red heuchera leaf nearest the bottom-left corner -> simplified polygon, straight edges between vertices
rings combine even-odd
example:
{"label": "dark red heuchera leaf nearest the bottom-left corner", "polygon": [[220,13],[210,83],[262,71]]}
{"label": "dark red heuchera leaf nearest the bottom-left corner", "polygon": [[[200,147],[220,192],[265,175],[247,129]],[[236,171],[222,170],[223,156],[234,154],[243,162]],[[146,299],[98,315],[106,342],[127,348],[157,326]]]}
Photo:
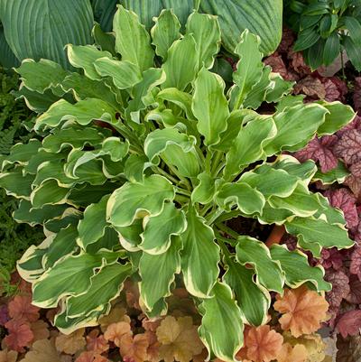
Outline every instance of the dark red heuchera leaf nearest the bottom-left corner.
{"label": "dark red heuchera leaf nearest the bottom-left corner", "polygon": [[17,352],[23,352],[24,347],[29,347],[32,343],[33,334],[29,323],[23,320],[9,320],[5,324],[9,334],[5,337],[5,345]]}

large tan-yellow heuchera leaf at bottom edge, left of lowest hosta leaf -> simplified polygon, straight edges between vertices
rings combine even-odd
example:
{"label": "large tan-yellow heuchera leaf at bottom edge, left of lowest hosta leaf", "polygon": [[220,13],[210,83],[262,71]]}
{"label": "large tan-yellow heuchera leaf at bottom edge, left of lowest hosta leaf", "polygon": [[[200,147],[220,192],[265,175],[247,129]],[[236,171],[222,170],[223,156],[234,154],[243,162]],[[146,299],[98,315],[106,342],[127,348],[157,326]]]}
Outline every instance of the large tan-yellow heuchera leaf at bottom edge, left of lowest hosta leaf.
{"label": "large tan-yellow heuchera leaf at bottom edge, left of lowest hosta leaf", "polygon": [[199,339],[197,327],[190,317],[180,317],[177,320],[168,316],[157,331],[158,341],[161,343],[160,357],[165,362],[174,359],[179,362],[189,362],[204,348]]}

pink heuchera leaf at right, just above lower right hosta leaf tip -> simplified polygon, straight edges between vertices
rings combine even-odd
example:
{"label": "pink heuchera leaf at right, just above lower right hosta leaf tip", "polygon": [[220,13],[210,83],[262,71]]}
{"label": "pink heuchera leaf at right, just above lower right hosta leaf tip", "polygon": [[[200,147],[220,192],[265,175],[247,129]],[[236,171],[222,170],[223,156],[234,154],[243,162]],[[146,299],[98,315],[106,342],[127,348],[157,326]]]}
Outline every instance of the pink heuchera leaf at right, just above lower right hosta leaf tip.
{"label": "pink heuchera leaf at right, just above lower right hosta leaf tip", "polygon": [[327,190],[325,196],[334,208],[343,211],[348,228],[357,227],[359,220],[356,209],[356,198],[349,190],[346,188]]}

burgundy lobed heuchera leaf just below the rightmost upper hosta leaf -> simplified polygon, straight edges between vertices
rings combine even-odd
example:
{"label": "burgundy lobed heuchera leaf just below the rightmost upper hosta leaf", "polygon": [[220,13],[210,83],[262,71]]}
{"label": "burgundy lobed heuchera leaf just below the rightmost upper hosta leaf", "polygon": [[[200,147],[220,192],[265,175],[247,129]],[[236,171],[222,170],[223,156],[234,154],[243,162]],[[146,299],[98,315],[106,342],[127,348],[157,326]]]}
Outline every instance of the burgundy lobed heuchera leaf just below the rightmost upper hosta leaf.
{"label": "burgundy lobed heuchera leaf just below the rightmost upper hosta leaf", "polygon": [[294,156],[300,162],[306,162],[307,160],[319,162],[321,172],[329,172],[338,165],[338,159],[332,153],[332,147],[337,141],[338,138],[335,135],[324,136],[321,138],[315,137],[305,148],[294,153]]}

